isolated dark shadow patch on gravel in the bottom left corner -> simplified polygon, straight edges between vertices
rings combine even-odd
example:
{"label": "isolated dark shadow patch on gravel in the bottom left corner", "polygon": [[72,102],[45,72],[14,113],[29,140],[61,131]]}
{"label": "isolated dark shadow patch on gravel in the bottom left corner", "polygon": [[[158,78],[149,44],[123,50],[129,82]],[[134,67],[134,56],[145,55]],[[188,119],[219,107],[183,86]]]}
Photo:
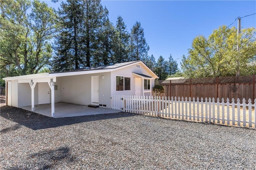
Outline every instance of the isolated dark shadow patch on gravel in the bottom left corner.
{"label": "isolated dark shadow patch on gravel in the bottom left corner", "polygon": [[60,147],[55,150],[43,150],[24,158],[24,162],[18,162],[15,167],[10,170],[18,169],[54,169],[54,166],[60,162],[70,164],[74,162],[73,156],[70,154],[69,147]]}

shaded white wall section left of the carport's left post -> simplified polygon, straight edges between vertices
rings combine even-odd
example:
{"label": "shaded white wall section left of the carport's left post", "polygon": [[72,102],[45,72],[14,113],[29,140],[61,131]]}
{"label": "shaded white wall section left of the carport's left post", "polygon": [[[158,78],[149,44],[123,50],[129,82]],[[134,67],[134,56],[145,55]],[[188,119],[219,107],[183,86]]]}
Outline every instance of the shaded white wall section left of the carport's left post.
{"label": "shaded white wall section left of the carport's left post", "polygon": [[31,105],[30,85],[28,83],[18,83],[18,107],[30,106],[30,105]]}

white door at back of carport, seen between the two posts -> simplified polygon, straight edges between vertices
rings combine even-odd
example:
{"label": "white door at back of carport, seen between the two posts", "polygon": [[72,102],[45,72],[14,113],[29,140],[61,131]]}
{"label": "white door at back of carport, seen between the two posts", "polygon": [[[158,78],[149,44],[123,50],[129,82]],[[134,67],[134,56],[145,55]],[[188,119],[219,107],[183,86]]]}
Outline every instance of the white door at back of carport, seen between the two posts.
{"label": "white door at back of carport, seen between the two posts", "polygon": [[38,83],[38,105],[50,103],[50,87],[48,83]]}

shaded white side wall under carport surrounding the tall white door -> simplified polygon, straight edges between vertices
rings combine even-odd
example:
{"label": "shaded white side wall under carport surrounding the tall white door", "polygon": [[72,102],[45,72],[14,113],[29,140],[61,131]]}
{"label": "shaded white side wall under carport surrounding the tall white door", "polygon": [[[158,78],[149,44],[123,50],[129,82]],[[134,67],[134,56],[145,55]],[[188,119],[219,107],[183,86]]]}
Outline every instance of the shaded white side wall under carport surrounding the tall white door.
{"label": "shaded white side wall under carport surrounding the tall white door", "polygon": [[[59,83],[61,87],[58,86],[58,90],[59,88],[61,90],[60,101],[78,105],[90,105],[91,77],[97,75],[99,76],[99,104],[110,108],[110,72],[58,77],[56,83]],[[102,79],[102,75],[104,75],[104,79]]]}

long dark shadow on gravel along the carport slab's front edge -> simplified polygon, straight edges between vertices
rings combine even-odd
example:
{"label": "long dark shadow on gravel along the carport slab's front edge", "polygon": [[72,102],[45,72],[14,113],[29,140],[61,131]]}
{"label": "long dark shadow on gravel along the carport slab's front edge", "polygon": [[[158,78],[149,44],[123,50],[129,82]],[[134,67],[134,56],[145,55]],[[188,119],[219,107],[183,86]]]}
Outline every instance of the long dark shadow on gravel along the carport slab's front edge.
{"label": "long dark shadow on gravel along the carport slab's front edge", "polygon": [[[1,111],[0,116],[2,118],[14,121],[20,125],[24,125],[25,127],[31,128],[32,130],[55,128],[55,127],[72,125],[72,124],[83,123],[83,122],[135,116],[131,113],[121,112],[121,113],[110,113],[110,114],[103,114],[103,115],[65,117],[65,118],[54,119],[51,117],[46,117],[44,115],[40,115],[38,113],[26,111],[24,109],[20,109],[16,107],[2,106],[0,107],[0,111]],[[10,130],[15,130],[15,129],[14,127],[10,127],[9,130],[6,129],[4,130],[4,132],[8,132]]]}

